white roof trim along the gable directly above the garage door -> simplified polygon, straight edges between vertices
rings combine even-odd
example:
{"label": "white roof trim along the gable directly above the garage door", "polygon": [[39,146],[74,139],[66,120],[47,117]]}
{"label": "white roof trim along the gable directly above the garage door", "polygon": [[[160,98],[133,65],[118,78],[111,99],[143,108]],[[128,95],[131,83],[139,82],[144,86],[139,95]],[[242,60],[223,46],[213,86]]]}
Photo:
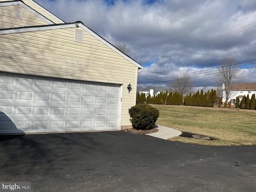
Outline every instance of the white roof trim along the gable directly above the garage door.
{"label": "white roof trim along the gable directly above the garage door", "polygon": [[[78,26],[77,26],[78,25]],[[118,50],[115,46],[110,44],[108,41],[104,40],[101,36],[90,30],[88,27],[86,27],[81,22],[76,23],[70,23],[70,24],[56,24],[56,25],[45,25],[45,26],[29,26],[29,27],[20,27],[20,28],[10,28],[10,29],[1,29],[0,34],[12,34],[12,33],[22,33],[22,32],[33,32],[33,31],[43,31],[43,30],[52,30],[52,29],[64,29],[64,28],[77,28],[80,27],[92,36],[94,36],[96,39],[100,40],[102,43],[104,43],[106,46],[110,47],[112,50],[116,51],[118,54],[126,58],[128,61],[130,61],[132,64],[137,66],[138,68],[143,68],[142,65],[140,65],[138,62]]]}

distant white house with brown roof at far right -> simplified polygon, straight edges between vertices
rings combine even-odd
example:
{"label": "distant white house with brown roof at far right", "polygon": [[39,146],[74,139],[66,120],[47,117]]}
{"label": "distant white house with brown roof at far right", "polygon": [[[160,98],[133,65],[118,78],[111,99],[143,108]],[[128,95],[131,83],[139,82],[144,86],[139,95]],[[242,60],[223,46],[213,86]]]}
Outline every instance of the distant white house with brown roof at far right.
{"label": "distant white house with brown roof at far right", "polygon": [[[249,94],[249,97],[252,98],[252,94],[256,94],[256,83],[237,83],[231,86],[231,97],[227,102],[230,102],[231,104],[236,104],[236,98],[239,97],[240,101],[242,100],[243,96],[247,96]],[[222,102],[226,101],[226,94],[225,91],[222,92]]]}

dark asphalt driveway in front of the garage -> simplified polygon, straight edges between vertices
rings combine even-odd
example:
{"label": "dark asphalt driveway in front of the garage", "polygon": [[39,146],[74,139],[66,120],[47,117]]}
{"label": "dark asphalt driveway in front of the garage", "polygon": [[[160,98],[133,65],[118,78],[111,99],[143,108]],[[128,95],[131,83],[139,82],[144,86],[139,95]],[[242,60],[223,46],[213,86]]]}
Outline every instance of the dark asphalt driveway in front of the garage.
{"label": "dark asphalt driveway in front of the garage", "polygon": [[33,192],[256,191],[256,146],[122,131],[0,138],[0,181],[32,182]]}

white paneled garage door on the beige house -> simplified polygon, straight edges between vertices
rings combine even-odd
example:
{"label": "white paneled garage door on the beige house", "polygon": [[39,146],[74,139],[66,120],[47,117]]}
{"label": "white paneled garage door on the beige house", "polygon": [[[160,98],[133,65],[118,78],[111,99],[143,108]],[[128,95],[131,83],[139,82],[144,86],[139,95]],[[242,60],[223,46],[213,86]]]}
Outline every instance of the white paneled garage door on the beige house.
{"label": "white paneled garage door on the beige house", "polygon": [[117,130],[120,85],[0,74],[0,133]]}

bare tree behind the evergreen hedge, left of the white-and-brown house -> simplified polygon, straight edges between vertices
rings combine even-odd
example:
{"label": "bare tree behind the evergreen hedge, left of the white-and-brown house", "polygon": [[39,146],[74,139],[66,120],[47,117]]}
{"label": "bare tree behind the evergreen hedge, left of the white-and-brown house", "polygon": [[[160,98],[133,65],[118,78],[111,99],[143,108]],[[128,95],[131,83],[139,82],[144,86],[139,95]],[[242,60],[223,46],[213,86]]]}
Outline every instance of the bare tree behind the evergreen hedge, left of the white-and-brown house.
{"label": "bare tree behind the evergreen hedge, left of the white-and-brown house", "polygon": [[193,88],[194,82],[191,80],[190,75],[182,74],[178,75],[174,80],[172,80],[169,90],[171,92],[178,92],[184,97],[192,92]]}

